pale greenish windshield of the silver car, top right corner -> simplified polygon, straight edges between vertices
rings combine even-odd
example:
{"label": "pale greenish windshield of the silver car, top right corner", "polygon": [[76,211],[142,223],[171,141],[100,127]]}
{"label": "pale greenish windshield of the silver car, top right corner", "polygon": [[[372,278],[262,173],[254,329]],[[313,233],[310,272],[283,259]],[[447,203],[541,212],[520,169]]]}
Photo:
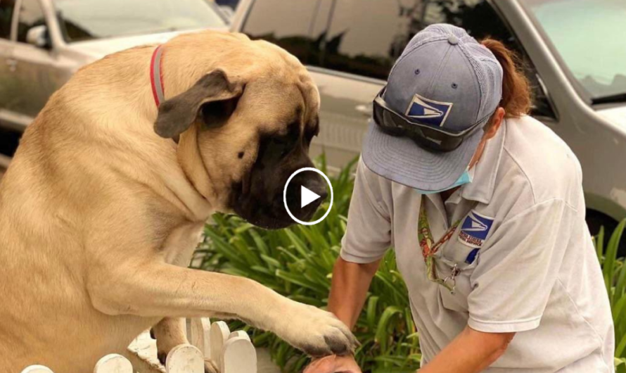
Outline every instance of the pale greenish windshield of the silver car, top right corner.
{"label": "pale greenish windshield of the silver car, top right corner", "polygon": [[525,0],[592,101],[626,94],[625,0]]}

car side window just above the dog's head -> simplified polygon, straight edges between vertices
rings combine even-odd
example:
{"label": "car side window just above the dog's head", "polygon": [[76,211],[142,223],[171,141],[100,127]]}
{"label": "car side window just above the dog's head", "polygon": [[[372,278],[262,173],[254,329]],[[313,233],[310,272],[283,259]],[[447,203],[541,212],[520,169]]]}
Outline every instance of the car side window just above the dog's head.
{"label": "car side window just above the dog's head", "polygon": [[278,44],[306,65],[320,65],[332,0],[256,0],[242,32]]}

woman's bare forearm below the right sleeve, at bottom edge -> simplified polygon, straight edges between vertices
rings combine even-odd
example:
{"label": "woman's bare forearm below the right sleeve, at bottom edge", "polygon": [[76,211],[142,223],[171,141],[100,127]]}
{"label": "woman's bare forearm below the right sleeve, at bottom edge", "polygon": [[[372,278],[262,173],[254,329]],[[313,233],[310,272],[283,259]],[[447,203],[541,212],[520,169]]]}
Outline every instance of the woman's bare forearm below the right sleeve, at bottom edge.
{"label": "woman's bare forearm below the right sleeve, at bottom edge", "polygon": [[509,347],[515,333],[484,333],[466,327],[419,373],[479,373]]}

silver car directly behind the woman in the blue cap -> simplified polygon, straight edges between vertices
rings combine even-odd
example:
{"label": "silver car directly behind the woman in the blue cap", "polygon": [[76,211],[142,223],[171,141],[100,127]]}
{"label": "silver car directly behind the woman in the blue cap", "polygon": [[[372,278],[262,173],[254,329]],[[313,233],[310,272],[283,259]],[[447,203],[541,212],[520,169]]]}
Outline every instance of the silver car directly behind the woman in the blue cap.
{"label": "silver car directly behind the woman in the blue cap", "polygon": [[592,231],[626,217],[626,1],[241,0],[231,30],[283,46],[321,94],[312,151],[340,167],[361,150],[371,101],[409,39],[433,23],[518,52],[532,115],[582,165]]}

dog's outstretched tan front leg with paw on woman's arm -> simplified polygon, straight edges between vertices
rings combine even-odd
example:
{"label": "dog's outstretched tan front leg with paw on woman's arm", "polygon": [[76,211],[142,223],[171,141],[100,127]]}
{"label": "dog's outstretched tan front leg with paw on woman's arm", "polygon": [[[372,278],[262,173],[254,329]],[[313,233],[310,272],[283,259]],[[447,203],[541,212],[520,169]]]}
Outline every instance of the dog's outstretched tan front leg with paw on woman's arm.
{"label": "dog's outstretched tan front leg with paw on woman's arm", "polygon": [[108,315],[237,318],[315,357],[345,355],[356,343],[330,312],[244,277],[144,262],[100,267],[91,272],[88,289],[94,306]]}

